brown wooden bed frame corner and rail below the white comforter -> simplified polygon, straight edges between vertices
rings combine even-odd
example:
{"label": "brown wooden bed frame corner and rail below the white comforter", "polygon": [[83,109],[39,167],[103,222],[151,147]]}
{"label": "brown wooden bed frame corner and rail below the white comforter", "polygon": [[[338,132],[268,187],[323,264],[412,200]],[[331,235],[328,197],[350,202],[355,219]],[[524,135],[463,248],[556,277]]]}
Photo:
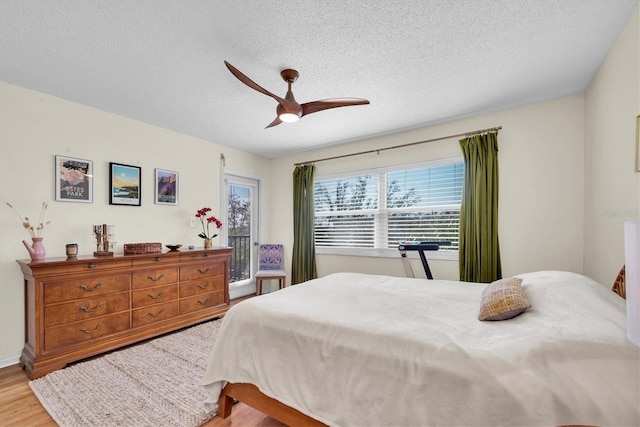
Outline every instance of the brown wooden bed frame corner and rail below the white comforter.
{"label": "brown wooden bed frame corner and rail below the white comforter", "polygon": [[218,399],[218,416],[220,418],[227,418],[231,415],[234,399],[289,426],[326,427],[326,424],[267,396],[255,385],[247,383],[228,383],[222,389]]}

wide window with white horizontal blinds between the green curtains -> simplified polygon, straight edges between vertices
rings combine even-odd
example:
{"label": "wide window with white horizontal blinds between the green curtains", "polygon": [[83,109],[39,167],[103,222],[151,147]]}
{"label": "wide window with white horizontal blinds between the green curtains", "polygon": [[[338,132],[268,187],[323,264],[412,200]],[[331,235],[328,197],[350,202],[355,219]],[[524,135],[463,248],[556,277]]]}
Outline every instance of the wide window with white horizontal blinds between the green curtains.
{"label": "wide window with white horizontal blinds between the green curtains", "polygon": [[464,163],[446,159],[319,177],[318,253],[397,256],[399,242],[438,242],[455,258]]}

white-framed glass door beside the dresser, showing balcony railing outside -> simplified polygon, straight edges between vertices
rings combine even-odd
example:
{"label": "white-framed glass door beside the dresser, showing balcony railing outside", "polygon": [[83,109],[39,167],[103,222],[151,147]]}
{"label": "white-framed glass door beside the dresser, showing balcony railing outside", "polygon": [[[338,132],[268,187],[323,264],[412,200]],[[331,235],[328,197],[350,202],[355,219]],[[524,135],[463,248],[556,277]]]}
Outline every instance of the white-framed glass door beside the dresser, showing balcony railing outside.
{"label": "white-framed glass door beside the dresser, showing balcony railing outside", "polygon": [[[259,182],[252,178],[225,174],[225,188],[227,245],[233,248],[229,284],[230,287],[250,285],[258,251]],[[255,292],[253,286],[248,286],[247,290]]]}

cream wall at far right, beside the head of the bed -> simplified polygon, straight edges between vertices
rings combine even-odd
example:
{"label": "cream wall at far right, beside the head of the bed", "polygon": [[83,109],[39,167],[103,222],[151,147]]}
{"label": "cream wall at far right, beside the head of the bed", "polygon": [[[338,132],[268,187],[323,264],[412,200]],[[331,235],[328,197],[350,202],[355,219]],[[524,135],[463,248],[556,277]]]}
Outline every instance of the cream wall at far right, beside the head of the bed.
{"label": "cream wall at far right, beside the head of the bed", "polygon": [[608,286],[624,264],[624,222],[640,218],[640,173],[634,173],[639,22],[640,6],[585,94],[585,274]]}

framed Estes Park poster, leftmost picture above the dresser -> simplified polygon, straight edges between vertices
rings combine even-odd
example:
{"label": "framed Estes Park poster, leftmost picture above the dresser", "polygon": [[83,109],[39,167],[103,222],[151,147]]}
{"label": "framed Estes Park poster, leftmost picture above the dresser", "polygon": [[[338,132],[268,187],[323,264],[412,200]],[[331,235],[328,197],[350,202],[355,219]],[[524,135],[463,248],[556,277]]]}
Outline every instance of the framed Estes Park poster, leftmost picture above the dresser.
{"label": "framed Estes Park poster, leftmost picture above the dresser", "polygon": [[56,201],[93,202],[93,162],[56,156]]}

